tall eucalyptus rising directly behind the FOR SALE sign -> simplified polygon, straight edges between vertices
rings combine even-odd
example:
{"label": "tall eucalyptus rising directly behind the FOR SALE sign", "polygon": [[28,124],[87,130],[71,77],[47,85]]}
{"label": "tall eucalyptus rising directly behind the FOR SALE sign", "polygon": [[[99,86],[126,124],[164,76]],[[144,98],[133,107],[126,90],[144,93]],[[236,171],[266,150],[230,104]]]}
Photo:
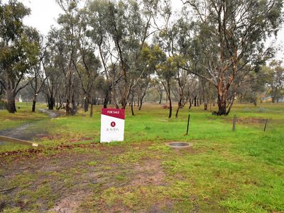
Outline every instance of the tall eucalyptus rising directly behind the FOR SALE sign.
{"label": "tall eucalyptus rising directly behind the FOR SALE sign", "polygon": [[[138,70],[138,58],[147,38],[153,33],[151,21],[157,11],[158,0],[94,0],[89,4],[91,16],[89,26],[92,28],[90,32],[92,40],[99,46],[107,80],[109,78],[108,65],[119,66],[118,81],[124,82],[120,99],[122,108],[125,108],[131,89],[143,72],[143,70]],[[102,50],[106,46],[109,50]],[[110,57],[113,59],[113,64],[107,64],[106,60],[110,60]],[[109,85],[111,89],[114,89],[111,84]]]}

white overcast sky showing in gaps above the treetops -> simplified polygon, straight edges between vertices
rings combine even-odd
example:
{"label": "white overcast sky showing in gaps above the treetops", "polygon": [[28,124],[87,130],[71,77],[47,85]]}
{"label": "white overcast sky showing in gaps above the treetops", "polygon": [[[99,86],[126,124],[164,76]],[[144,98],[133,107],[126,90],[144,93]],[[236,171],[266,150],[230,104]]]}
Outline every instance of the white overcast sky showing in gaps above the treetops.
{"label": "white overcast sky showing in gaps above the treetops", "polygon": [[[4,0],[6,3],[8,0]],[[24,18],[24,23],[28,26],[33,26],[37,28],[40,33],[47,35],[51,26],[56,26],[56,20],[58,18],[59,13],[62,13],[58,4],[56,4],[55,0],[20,0],[27,7],[31,9],[31,15]],[[174,10],[180,10],[182,7],[182,3],[180,0],[172,0]],[[270,43],[275,43],[280,51],[276,55],[278,59],[284,59],[283,53],[283,42],[284,42],[284,29],[282,29],[278,33],[277,41],[271,40]]]}

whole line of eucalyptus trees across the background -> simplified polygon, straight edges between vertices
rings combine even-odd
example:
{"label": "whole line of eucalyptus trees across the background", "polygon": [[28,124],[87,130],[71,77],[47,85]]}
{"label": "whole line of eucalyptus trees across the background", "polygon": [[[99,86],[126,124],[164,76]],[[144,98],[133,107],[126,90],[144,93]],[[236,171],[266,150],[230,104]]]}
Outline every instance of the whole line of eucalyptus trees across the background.
{"label": "whole line of eucalyptus trees across the background", "polygon": [[[271,60],[266,40],[282,23],[282,1],[56,0],[62,13],[47,36],[23,25],[20,1],[0,1],[0,97],[9,112],[28,89],[45,97],[48,109],[67,115],[93,104],[141,110],[149,92],[189,108],[217,101],[229,114],[236,98],[256,104],[263,92],[283,97],[283,67]],[[262,99],[261,99],[262,100]],[[90,108],[90,109],[89,109]]]}

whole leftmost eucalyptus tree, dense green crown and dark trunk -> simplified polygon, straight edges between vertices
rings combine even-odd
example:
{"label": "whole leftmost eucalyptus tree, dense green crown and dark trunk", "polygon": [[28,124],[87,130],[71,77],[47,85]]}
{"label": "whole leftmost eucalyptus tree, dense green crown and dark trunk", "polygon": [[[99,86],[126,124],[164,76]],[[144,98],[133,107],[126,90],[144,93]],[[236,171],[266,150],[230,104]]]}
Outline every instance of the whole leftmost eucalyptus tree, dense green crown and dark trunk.
{"label": "whole leftmost eucalyptus tree, dense green crown and dark trunk", "polygon": [[[30,82],[19,87],[23,78],[32,72],[38,62],[38,43],[33,37],[35,29],[23,25],[23,18],[30,13],[21,2],[0,1],[0,69],[1,82],[7,97],[7,109],[16,112],[15,97]],[[33,31],[34,33],[31,33]]]}

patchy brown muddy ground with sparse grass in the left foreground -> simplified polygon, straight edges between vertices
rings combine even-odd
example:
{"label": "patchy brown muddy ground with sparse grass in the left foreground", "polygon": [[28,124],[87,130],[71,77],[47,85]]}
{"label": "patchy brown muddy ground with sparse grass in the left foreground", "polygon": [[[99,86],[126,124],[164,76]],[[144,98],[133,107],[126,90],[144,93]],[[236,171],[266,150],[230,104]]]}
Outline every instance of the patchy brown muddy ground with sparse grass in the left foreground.
{"label": "patchy brown muddy ground with sparse grass in the left foreground", "polygon": [[[81,148],[62,148],[53,154],[0,156],[0,190],[6,190],[0,192],[4,195],[0,212],[5,208],[28,212],[164,212],[171,209],[172,203],[168,200],[150,201],[140,209],[123,202],[106,202],[108,197],[104,192],[109,189],[131,191],[167,185],[160,160],[166,155],[160,153],[157,158],[148,151],[149,146],[151,143],[111,147],[92,143]],[[138,158],[129,157],[133,149],[138,151]]]}

